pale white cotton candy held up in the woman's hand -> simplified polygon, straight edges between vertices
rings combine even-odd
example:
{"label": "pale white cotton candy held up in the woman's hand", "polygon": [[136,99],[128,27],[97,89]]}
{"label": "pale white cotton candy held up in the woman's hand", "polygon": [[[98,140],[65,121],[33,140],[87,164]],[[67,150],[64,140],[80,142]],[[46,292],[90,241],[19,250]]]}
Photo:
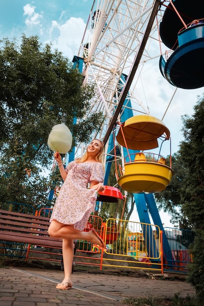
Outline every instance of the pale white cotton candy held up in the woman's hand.
{"label": "pale white cotton candy held up in the woman's hand", "polygon": [[68,127],[65,124],[55,125],[49,133],[47,144],[54,152],[68,153],[72,144],[72,135]]}

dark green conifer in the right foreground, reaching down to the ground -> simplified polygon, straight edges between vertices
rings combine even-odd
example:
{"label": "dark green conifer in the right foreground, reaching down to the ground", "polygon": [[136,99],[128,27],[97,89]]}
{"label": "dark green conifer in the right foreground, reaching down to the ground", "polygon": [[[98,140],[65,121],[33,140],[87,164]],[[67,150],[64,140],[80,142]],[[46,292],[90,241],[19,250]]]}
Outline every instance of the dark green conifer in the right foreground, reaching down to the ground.
{"label": "dark green conifer in the right foreground, reaching down to the ground", "polygon": [[195,231],[191,246],[193,262],[189,264],[188,281],[195,287],[198,305],[204,301],[204,97],[199,98],[190,118],[183,120],[184,140],[180,155],[186,174],[180,188],[182,213]]}

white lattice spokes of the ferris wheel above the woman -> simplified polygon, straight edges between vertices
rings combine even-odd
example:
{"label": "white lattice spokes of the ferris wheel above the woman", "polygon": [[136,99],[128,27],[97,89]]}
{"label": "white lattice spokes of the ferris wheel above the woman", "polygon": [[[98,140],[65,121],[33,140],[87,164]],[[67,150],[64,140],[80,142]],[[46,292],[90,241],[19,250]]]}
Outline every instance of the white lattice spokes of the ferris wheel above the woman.
{"label": "white lattice spokes of the ferris wheel above the woman", "polygon": [[159,1],[154,0],[93,1],[78,58],[83,61],[84,82],[95,86],[91,111],[104,115],[101,131],[94,137],[105,142],[118,113],[149,114],[136,95],[140,78],[136,69],[141,71],[154,57],[145,46],[159,40],[155,17],[160,20],[162,12],[158,8]]}

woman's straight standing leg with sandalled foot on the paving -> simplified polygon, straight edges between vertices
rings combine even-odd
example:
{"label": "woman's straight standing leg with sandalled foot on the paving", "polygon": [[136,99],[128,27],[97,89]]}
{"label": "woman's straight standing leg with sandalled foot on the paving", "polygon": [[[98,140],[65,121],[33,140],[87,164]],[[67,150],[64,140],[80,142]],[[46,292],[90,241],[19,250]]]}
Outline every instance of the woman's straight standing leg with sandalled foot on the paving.
{"label": "woman's straight standing leg with sandalled foot on the paving", "polygon": [[70,289],[72,287],[71,272],[72,262],[74,257],[74,244],[73,240],[63,239],[62,254],[64,263],[65,277],[62,283],[56,286],[57,289]]}

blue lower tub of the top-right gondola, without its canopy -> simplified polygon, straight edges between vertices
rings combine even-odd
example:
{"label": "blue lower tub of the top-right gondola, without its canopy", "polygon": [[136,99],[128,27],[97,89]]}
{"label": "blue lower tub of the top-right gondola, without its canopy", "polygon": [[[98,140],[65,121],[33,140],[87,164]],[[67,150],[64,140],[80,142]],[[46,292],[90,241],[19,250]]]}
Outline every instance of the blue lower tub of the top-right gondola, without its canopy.
{"label": "blue lower tub of the top-right gondola, without its canopy", "polygon": [[167,81],[179,88],[204,86],[204,23],[184,29],[178,34],[179,46],[168,58],[160,56],[159,68]]}

